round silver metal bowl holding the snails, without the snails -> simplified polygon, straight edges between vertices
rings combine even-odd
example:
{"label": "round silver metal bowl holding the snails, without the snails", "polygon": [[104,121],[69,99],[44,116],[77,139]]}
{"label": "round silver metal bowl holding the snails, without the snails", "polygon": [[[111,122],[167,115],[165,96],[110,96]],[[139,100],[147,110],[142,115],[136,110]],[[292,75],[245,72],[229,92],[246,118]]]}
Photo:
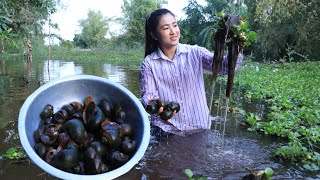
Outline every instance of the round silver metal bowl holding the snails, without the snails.
{"label": "round silver metal bowl holding the snails, without the snails", "polygon": [[[51,104],[54,111],[72,101],[84,102],[87,96],[95,102],[108,97],[112,103],[119,102],[126,113],[126,120],[135,129],[137,148],[131,159],[121,167],[97,175],[79,175],[57,169],[42,160],[34,150],[33,133],[39,128],[40,112]],[[60,179],[114,179],[127,173],[140,161],[150,141],[150,123],[141,102],[125,87],[105,78],[91,75],[68,76],[41,86],[22,105],[19,112],[18,130],[21,144],[30,159],[41,169]]]}

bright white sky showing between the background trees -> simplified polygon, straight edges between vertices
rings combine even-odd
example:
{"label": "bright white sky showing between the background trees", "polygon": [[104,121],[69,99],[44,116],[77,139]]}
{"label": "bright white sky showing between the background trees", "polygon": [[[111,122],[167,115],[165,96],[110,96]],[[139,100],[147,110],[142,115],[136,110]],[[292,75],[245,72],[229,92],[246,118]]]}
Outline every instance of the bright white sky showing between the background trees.
{"label": "bright white sky showing between the background trees", "polygon": [[[57,23],[59,30],[50,29],[51,33],[60,35],[65,40],[73,40],[74,34],[81,32],[79,20],[86,19],[89,9],[100,10],[105,17],[122,17],[122,0],[61,0],[62,10],[51,16],[51,22]],[[205,0],[198,0],[203,4]],[[188,0],[168,0],[164,7],[172,11],[178,19],[185,17],[182,9],[188,5]],[[110,31],[118,34],[121,26],[110,24]],[[47,25],[44,27],[48,33]]]}

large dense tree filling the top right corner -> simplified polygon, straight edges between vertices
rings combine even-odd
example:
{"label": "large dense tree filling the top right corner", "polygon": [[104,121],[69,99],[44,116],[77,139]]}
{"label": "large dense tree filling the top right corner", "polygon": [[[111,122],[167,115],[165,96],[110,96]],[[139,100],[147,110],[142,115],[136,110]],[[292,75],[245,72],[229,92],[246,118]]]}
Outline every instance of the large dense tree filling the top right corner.
{"label": "large dense tree filling the top right corner", "polygon": [[297,54],[319,58],[319,1],[246,0],[245,3],[249,7],[251,23],[259,35],[258,57],[279,59],[292,49],[299,52]]}

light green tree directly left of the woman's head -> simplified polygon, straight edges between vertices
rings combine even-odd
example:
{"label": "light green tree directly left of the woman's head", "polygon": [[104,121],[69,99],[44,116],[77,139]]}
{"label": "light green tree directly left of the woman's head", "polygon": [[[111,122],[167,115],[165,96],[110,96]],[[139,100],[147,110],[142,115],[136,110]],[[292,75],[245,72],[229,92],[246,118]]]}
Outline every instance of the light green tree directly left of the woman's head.
{"label": "light green tree directly left of the woman's head", "polygon": [[[124,18],[122,20],[125,27],[127,42],[132,45],[144,42],[144,27],[146,17],[155,9],[165,4],[166,0],[124,0],[121,6]],[[130,46],[130,44],[128,44]]]}

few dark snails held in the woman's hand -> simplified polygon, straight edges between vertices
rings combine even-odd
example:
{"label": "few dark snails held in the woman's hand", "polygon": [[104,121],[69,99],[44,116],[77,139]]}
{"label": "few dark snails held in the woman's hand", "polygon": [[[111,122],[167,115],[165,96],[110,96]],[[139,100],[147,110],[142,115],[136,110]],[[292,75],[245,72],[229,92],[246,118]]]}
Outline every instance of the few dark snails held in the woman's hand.
{"label": "few dark snails held in the woman's hand", "polygon": [[145,109],[149,114],[157,114],[161,107],[163,107],[163,111],[159,116],[164,121],[168,121],[173,116],[174,111],[176,113],[180,111],[180,104],[178,102],[171,101],[165,103],[160,99],[150,102]]}

